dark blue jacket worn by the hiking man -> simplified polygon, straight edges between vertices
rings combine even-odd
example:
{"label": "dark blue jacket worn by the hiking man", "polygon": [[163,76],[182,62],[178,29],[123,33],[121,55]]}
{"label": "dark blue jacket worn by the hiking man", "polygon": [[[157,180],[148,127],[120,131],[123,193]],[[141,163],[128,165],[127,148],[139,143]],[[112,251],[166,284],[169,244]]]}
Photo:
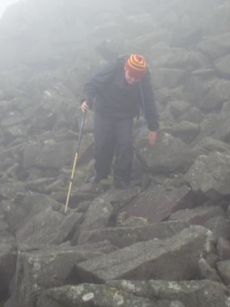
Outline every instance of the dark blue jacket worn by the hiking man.
{"label": "dark blue jacket worn by the hiking man", "polygon": [[151,75],[147,71],[141,82],[129,84],[124,70],[127,58],[128,56],[120,56],[96,73],[84,86],[83,101],[94,99],[95,112],[118,119],[138,116],[142,108],[149,130],[156,131],[159,128],[159,115]]}

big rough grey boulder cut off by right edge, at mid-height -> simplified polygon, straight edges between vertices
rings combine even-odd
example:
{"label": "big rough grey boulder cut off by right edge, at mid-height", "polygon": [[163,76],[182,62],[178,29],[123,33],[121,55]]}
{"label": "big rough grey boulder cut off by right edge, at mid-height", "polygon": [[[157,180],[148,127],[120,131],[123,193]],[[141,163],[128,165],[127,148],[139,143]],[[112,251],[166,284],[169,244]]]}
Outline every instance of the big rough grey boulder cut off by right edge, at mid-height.
{"label": "big rough grey boulder cut off by right edge, at mid-height", "polygon": [[229,194],[230,156],[214,151],[209,156],[199,156],[184,179],[194,192],[203,192],[209,199],[218,200]]}

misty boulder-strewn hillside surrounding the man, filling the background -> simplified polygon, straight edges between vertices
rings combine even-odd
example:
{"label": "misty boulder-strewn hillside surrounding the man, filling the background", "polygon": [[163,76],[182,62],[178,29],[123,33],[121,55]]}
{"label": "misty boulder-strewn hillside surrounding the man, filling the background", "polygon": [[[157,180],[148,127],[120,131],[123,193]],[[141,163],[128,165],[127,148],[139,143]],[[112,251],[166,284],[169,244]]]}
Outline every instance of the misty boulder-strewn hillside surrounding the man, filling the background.
{"label": "misty boulder-strewn hillside surrounding the man, filling the background", "polygon": [[[229,306],[229,0],[0,1],[0,306]],[[88,111],[64,212],[84,85],[133,53],[157,140],[140,112],[133,185],[92,184]]]}

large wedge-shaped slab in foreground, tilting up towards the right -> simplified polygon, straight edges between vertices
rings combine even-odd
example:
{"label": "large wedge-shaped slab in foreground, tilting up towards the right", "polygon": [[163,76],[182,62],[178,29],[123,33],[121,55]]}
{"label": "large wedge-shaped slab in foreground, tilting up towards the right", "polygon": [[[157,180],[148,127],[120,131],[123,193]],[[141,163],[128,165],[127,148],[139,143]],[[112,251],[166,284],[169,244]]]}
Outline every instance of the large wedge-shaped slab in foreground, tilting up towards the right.
{"label": "large wedge-shaped slab in foreground, tilting up towards the right", "polygon": [[199,274],[201,254],[211,249],[212,232],[192,225],[164,240],[133,244],[75,267],[79,282],[105,280],[188,280]]}

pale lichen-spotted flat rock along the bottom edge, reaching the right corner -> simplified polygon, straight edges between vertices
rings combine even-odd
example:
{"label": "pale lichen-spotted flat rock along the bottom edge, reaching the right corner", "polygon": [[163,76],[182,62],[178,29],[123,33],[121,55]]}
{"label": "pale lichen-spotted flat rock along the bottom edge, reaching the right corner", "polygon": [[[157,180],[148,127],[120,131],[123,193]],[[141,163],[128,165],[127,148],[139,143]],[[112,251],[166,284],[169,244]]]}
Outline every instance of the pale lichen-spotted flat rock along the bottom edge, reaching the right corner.
{"label": "pale lichen-spotted flat rock along the bottom edge, reaching the right corner", "polygon": [[178,300],[186,307],[227,307],[227,288],[220,282],[211,280],[109,280],[109,286],[149,299]]}

